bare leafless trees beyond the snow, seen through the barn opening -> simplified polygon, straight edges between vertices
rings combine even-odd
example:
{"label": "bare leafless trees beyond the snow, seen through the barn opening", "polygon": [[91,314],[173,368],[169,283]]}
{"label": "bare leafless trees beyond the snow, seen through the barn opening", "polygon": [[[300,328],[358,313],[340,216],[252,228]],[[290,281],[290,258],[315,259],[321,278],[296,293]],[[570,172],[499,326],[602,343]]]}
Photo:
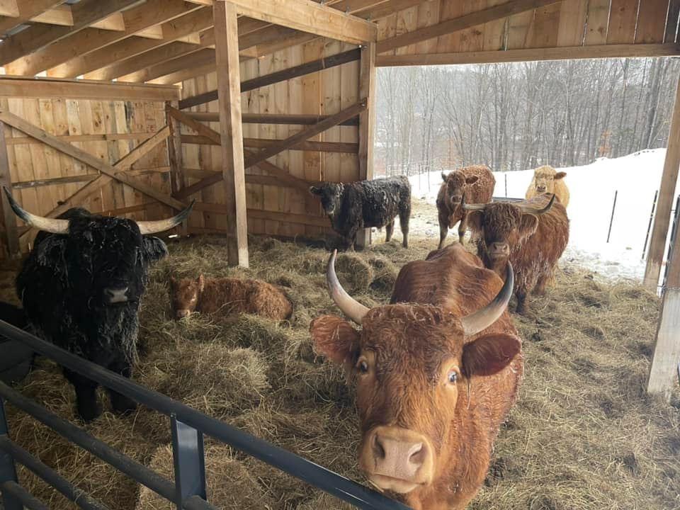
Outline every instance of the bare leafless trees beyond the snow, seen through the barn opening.
{"label": "bare leafless trees beyond the snow, seen through the barn opening", "polygon": [[665,147],[672,58],[378,69],[377,173],[574,166]]}

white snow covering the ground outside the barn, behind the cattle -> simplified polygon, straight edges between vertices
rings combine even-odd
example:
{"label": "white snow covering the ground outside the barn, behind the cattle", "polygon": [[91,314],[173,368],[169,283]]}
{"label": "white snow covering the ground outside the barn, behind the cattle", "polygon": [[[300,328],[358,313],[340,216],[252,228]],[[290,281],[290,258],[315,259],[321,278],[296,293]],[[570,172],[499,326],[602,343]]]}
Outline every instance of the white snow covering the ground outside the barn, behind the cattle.
{"label": "white snow covering the ground outside the barn, behind the cattle", "polygon": [[[666,149],[636,152],[628,156],[600,158],[584,166],[557,169],[567,172],[565,183],[570,191],[567,215],[570,218],[570,240],[563,261],[571,261],[606,278],[642,280],[645,261],[642,247],[650,222],[652,202],[659,188]],[[495,197],[523,198],[531,183],[533,170],[494,172]],[[412,196],[435,203],[441,184],[441,171],[409,178]],[[506,191],[507,190],[507,191]],[[607,232],[611,219],[611,235]],[[433,231],[438,239],[436,216]],[[429,227],[427,228],[430,235]],[[455,229],[449,236],[455,238]]]}

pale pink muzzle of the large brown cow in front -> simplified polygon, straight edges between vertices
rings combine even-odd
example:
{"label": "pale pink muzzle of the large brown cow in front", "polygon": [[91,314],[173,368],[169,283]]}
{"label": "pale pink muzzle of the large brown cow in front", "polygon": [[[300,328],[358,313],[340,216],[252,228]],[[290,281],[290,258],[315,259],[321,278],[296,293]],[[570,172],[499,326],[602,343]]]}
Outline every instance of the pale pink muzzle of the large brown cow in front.
{"label": "pale pink muzzle of the large brown cow in front", "polygon": [[369,439],[370,457],[363,467],[374,483],[383,489],[397,490],[404,484],[414,488],[429,482],[432,452],[420,433],[401,427],[377,427]]}

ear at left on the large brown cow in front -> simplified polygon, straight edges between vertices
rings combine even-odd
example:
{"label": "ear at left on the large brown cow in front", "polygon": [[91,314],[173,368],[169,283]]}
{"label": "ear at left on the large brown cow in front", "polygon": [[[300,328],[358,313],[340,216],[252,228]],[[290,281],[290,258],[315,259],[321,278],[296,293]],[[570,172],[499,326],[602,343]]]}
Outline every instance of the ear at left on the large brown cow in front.
{"label": "ear at left on the large brown cow in front", "polygon": [[310,324],[314,351],[339,365],[353,363],[360,334],[349,322],[335,315],[322,315]]}

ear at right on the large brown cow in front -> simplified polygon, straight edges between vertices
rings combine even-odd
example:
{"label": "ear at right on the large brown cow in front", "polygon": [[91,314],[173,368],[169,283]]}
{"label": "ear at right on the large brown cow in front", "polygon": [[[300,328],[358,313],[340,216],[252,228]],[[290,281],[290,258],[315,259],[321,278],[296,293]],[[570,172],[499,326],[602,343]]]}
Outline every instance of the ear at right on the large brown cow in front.
{"label": "ear at right on the large brown cow in front", "polygon": [[511,334],[494,333],[480,336],[463,347],[463,373],[472,375],[494,375],[522,351],[519,338]]}

